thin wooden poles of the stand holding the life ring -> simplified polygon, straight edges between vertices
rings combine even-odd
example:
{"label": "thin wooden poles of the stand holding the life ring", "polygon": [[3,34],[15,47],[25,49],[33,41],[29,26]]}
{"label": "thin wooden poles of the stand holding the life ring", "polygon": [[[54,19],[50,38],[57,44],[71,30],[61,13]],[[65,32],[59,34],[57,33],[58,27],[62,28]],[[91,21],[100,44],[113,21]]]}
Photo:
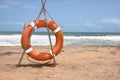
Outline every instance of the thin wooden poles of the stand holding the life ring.
{"label": "thin wooden poles of the stand holding the life ring", "polygon": [[[38,19],[40,18],[40,16],[41,16],[42,13],[44,14],[44,20],[46,21],[48,38],[49,38],[50,48],[51,48],[52,57],[53,57],[53,61],[54,61],[54,66],[55,66],[55,65],[56,65],[55,54],[54,54],[54,52],[53,52],[53,46],[52,46],[52,41],[51,41],[51,36],[50,36],[49,28],[48,28],[48,22],[47,22],[47,17],[46,17],[46,15],[48,15],[53,22],[55,22],[55,21],[54,21],[54,19],[52,18],[52,16],[48,13],[48,11],[45,9],[46,1],[47,1],[47,0],[41,0],[42,7],[41,7],[41,10],[40,10],[40,12],[39,12],[38,17],[36,18],[36,20],[38,20]],[[24,25],[24,28],[25,28],[25,27],[26,27],[26,24]],[[35,28],[35,26],[34,26],[34,28]],[[34,30],[33,30],[33,31],[34,31]],[[33,31],[32,31],[32,33],[33,33]],[[31,35],[32,35],[32,33],[31,33]],[[23,51],[23,53],[22,53],[22,55],[21,55],[21,58],[20,58],[20,60],[19,60],[19,62],[18,62],[18,66],[20,66],[20,64],[21,64],[21,61],[22,61],[23,56],[24,56],[24,54],[25,54],[25,51],[26,51],[26,49],[27,49],[27,45],[28,45],[28,41],[27,41],[26,46],[25,46],[25,49],[24,49],[24,51]]]}

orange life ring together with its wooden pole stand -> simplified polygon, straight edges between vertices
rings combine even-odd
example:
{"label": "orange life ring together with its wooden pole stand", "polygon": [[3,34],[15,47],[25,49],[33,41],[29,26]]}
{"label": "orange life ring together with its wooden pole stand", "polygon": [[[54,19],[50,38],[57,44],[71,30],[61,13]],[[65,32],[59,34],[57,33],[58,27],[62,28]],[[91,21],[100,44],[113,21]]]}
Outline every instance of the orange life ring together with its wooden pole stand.
{"label": "orange life ring together with its wooden pole stand", "polygon": [[[25,28],[23,30],[22,38],[21,38],[21,45],[24,51],[21,56],[21,59],[19,60],[18,65],[20,65],[24,53],[27,53],[30,57],[32,57],[33,59],[39,60],[39,61],[50,60],[53,58],[54,65],[55,65],[56,63],[55,55],[60,53],[62,50],[63,32],[61,28],[55,23],[52,16],[45,9],[46,0],[41,0],[41,3],[42,3],[42,8],[39,12],[38,17],[33,22],[25,25]],[[44,14],[44,20],[39,19],[42,13]],[[48,14],[48,16],[51,18],[52,21],[47,20],[46,14]],[[50,47],[51,47],[51,50],[49,52],[38,52],[37,50],[34,50],[33,47],[31,46],[31,43],[30,43],[31,35],[38,28],[47,28]],[[56,37],[56,43],[54,47],[52,46],[49,29],[54,32],[55,37]]]}

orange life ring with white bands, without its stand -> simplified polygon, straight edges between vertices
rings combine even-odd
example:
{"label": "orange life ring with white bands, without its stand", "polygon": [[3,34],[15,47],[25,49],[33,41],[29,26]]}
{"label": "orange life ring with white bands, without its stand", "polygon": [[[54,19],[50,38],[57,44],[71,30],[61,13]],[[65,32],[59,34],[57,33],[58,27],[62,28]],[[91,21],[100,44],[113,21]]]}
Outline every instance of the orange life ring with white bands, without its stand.
{"label": "orange life ring with white bands, without its stand", "polygon": [[[48,28],[55,34],[56,42],[53,47],[54,56],[58,55],[63,48],[63,32],[61,28],[53,21],[47,21]],[[39,61],[50,60],[53,58],[51,50],[49,52],[39,52],[33,49],[30,38],[33,30],[38,28],[47,28],[46,20],[35,20],[28,24],[23,30],[21,37],[21,46],[25,50],[25,53],[31,58]]]}

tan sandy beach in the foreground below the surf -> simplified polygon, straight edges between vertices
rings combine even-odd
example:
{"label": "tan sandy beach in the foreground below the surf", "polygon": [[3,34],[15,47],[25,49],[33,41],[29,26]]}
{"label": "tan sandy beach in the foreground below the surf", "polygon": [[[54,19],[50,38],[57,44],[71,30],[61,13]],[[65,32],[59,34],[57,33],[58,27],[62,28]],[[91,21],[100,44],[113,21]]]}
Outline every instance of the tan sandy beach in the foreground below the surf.
{"label": "tan sandy beach in the foreground below the surf", "polygon": [[64,46],[55,67],[52,61],[31,63],[26,55],[17,67],[22,52],[18,46],[0,47],[0,80],[120,80],[120,47]]}

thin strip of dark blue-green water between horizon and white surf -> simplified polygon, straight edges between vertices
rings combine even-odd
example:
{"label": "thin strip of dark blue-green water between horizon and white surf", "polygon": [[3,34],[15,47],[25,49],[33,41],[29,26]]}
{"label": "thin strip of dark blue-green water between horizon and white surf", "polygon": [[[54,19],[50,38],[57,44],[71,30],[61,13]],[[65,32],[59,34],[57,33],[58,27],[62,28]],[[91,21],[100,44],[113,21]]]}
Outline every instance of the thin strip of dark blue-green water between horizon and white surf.
{"label": "thin strip of dark blue-green water between horizon and white surf", "polygon": [[[21,34],[22,32],[0,32],[0,35]],[[120,36],[118,32],[63,32],[65,36]],[[47,32],[34,32],[34,35],[47,35]]]}

